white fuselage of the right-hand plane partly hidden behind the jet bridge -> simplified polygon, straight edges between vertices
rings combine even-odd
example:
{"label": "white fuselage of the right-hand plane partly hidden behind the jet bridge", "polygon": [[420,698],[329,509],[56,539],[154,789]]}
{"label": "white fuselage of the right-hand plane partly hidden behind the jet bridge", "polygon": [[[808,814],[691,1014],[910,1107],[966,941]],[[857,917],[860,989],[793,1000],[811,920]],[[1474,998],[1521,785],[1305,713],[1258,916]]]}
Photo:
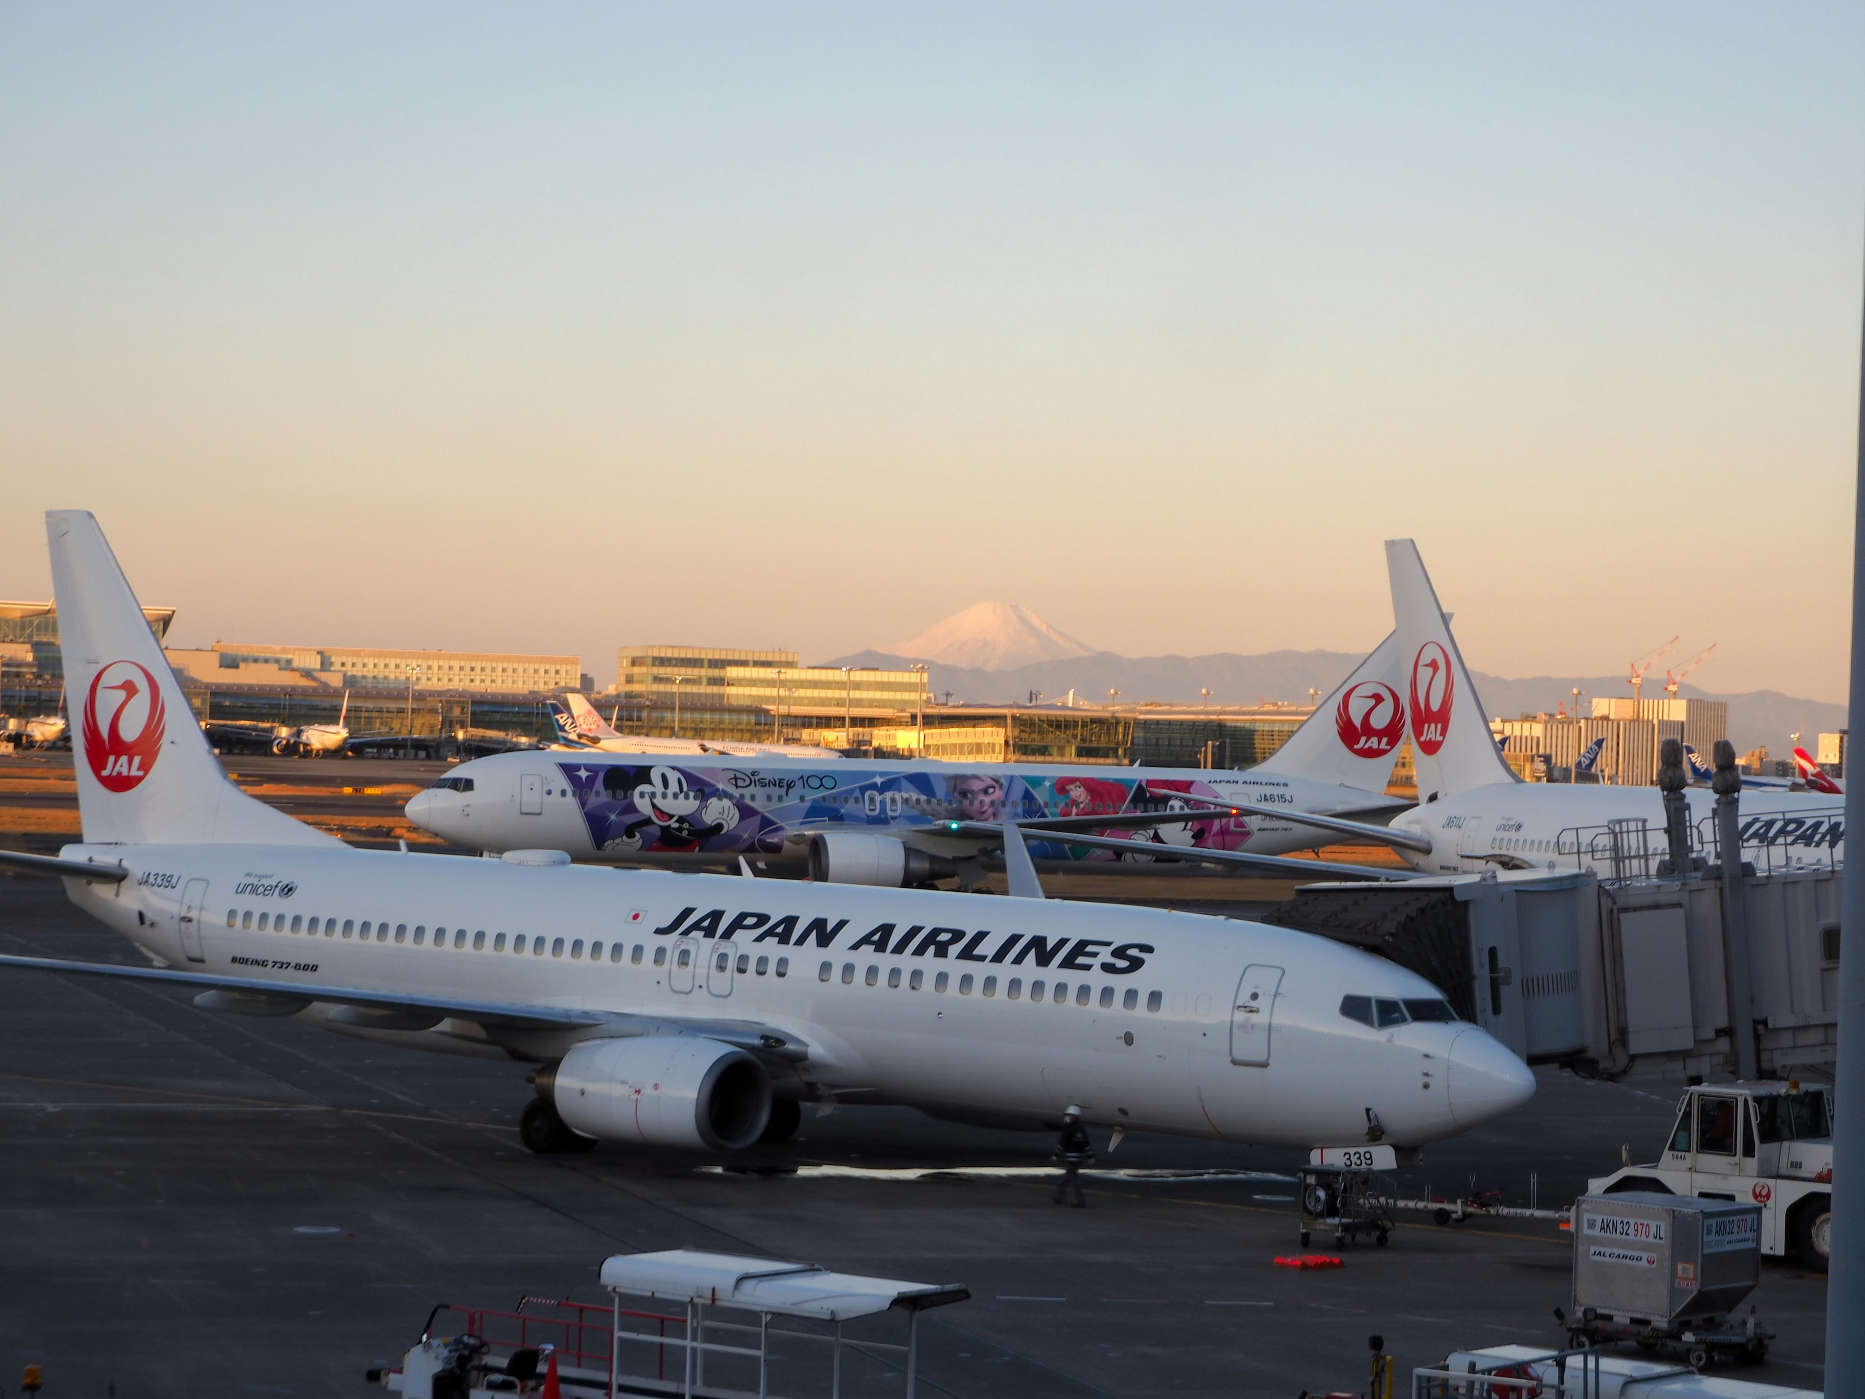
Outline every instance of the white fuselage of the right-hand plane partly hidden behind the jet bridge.
{"label": "white fuselage of the right-hand plane partly hidden behind the jet bridge", "polygon": [[[1701,787],[1684,793],[1695,849],[1714,847],[1716,796]],[[1738,802],[1744,858],[1772,856],[1775,867],[1831,864],[1844,856],[1843,798],[1820,793],[1744,791]],[[1608,823],[1647,824],[1652,854],[1664,852],[1664,796],[1656,787],[1595,787],[1544,782],[1499,782],[1471,787],[1393,817],[1393,830],[1432,841],[1429,854],[1401,851],[1429,873],[1518,869],[1613,871]],[[1624,841],[1621,841],[1624,851]]]}

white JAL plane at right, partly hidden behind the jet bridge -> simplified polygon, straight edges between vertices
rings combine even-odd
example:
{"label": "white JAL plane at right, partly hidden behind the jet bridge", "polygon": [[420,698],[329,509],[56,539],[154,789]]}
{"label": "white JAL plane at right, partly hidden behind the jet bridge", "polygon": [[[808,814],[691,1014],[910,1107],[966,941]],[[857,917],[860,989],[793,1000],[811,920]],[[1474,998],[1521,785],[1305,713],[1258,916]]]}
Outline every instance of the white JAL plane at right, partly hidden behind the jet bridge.
{"label": "white JAL plane at right, partly hidden behind the jet bridge", "polygon": [[[1664,845],[1664,798],[1656,787],[1604,787],[1522,782],[1503,761],[1475,685],[1410,539],[1386,541],[1393,619],[1406,657],[1412,755],[1419,806],[1393,819],[1430,841],[1429,851],[1401,854],[1430,873],[1485,866],[1513,869],[1611,869],[1608,823],[1643,819],[1649,843]],[[1701,787],[1684,793],[1710,847],[1716,796]],[[1844,854],[1844,810],[1830,795],[1744,791],[1744,849],[1775,847],[1789,864],[1828,862]]]}

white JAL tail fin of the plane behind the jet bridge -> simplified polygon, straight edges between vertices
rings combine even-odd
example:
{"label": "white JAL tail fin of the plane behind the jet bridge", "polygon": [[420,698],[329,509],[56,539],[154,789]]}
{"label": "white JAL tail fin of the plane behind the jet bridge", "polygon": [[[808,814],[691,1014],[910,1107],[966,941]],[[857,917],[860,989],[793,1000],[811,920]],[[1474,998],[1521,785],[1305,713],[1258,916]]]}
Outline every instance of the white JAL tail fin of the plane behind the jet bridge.
{"label": "white JAL tail fin of the plane behind the jet bridge", "polygon": [[1386,541],[1393,621],[1404,668],[1417,798],[1434,802],[1470,787],[1520,782],[1496,748],[1470,668],[1410,539]]}

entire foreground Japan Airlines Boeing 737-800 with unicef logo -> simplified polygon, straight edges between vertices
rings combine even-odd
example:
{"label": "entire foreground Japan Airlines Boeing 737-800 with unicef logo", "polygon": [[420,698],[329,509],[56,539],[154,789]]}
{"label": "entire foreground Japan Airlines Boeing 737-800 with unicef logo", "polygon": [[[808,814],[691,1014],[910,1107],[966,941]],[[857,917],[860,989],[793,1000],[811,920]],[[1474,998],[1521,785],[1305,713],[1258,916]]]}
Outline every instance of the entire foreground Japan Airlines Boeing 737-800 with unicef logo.
{"label": "entire foreground Japan Airlines Boeing 737-800 with unicef logo", "polygon": [[[1259,923],[921,890],[354,851],[222,774],[97,522],[47,517],[80,711],[73,903],[200,1004],[539,1061],[520,1127],[731,1151],[802,1102],[1291,1147],[1417,1145],[1533,1093],[1417,976]],[[1013,884],[1039,893],[1015,828]],[[1018,858],[1022,856],[1022,858]]]}

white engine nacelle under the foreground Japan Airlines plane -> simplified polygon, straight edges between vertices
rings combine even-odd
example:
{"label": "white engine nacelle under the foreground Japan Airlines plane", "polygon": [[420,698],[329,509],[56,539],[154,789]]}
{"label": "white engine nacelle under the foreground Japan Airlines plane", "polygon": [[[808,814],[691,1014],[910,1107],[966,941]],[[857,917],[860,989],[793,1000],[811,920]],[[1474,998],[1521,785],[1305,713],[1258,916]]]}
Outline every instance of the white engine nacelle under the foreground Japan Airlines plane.
{"label": "white engine nacelle under the foreground Japan Airlines plane", "polygon": [[537,1087],[567,1127],[601,1142],[739,1151],[770,1121],[765,1065],[696,1035],[586,1039]]}

